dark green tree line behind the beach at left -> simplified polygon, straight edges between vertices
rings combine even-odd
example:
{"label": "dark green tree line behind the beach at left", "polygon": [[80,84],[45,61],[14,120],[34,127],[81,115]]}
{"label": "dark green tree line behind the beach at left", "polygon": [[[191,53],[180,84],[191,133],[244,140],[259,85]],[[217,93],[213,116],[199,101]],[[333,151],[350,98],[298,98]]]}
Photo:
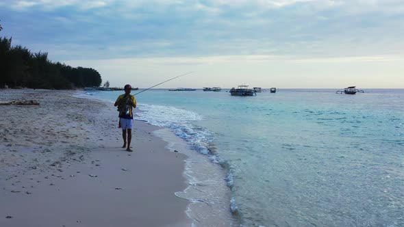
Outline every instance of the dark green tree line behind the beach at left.
{"label": "dark green tree line behind the beach at left", "polygon": [[31,53],[11,42],[12,38],[0,37],[0,88],[74,89],[101,85],[101,75],[93,68],[51,62],[47,52]]}

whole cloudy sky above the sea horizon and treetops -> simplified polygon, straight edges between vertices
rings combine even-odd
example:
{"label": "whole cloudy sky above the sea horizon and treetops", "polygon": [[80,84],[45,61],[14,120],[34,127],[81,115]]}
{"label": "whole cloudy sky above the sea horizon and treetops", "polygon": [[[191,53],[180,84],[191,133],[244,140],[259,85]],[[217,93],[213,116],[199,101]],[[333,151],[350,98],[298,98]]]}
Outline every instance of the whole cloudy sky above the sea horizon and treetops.
{"label": "whole cloudy sky above the sea horizon and treetops", "polygon": [[402,0],[2,0],[0,20],[111,86],[404,88]]}

